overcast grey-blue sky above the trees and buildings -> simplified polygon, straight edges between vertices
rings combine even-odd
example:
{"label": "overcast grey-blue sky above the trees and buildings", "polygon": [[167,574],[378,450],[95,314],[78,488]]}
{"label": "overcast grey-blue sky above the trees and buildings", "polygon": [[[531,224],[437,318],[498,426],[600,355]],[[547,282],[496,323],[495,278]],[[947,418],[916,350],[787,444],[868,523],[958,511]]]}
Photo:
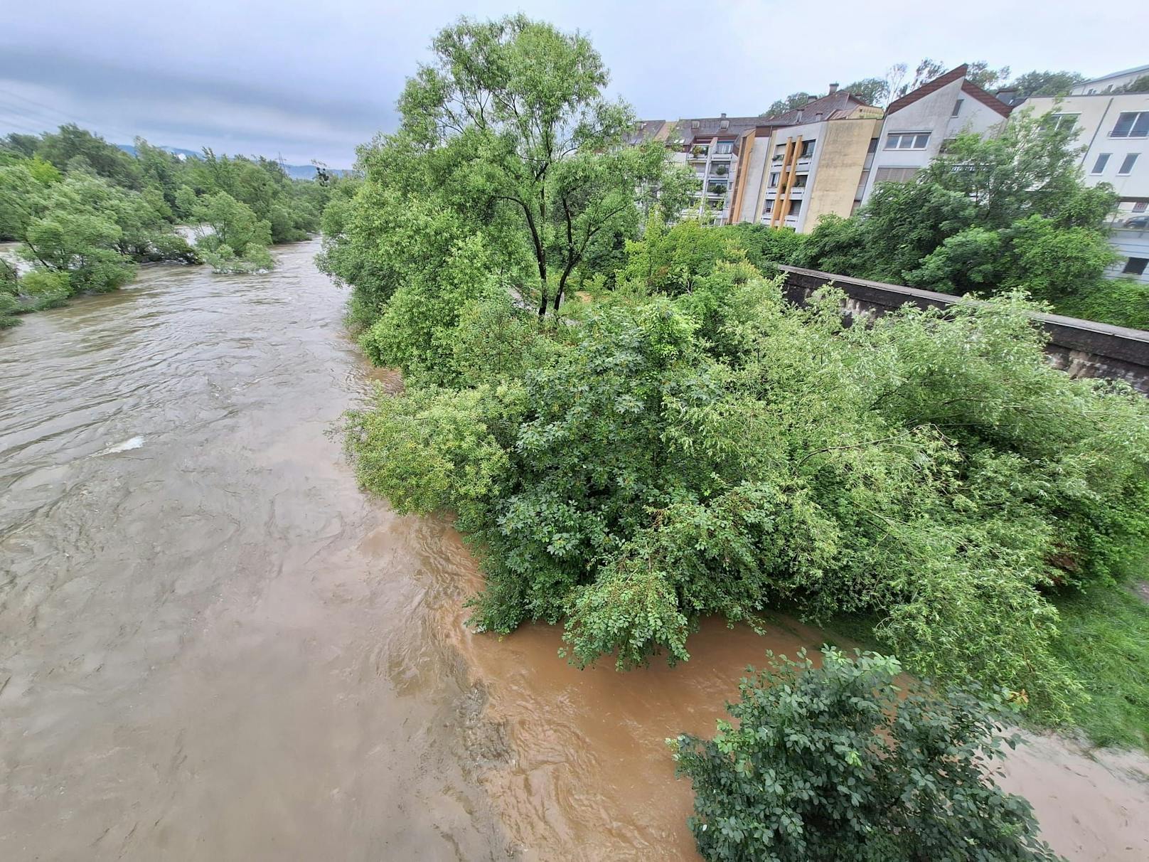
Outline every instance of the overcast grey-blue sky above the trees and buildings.
{"label": "overcast grey-blue sky above the trees and buildings", "polygon": [[589,34],[610,93],[645,118],[759,114],[923,56],[1089,77],[1149,62],[1143,0],[11,0],[0,133],[71,121],[114,143],[348,167],[395,128],[395,98],[440,26],[517,10]]}

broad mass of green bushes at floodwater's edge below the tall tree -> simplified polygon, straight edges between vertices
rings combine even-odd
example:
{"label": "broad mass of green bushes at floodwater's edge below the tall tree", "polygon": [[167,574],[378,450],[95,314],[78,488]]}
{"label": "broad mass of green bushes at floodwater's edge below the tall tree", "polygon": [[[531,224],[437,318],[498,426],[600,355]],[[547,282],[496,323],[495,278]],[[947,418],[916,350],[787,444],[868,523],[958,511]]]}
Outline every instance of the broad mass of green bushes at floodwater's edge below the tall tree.
{"label": "broad mass of green bushes at floodwater's edge below the tall tree", "polygon": [[[1149,536],[1149,408],[1050,368],[1019,299],[845,329],[840,297],[796,308],[719,262],[677,299],[619,292],[548,334],[457,297],[386,344],[426,345],[462,388],[417,375],[356,414],[349,446],[368,487],[464,515],[476,625],[563,622],[573,661],[626,668],[688,659],[707,614],[865,610],[915,670],[1050,721],[1080,699],[1046,594],[1109,580]],[[484,339],[478,315],[500,329]]]}

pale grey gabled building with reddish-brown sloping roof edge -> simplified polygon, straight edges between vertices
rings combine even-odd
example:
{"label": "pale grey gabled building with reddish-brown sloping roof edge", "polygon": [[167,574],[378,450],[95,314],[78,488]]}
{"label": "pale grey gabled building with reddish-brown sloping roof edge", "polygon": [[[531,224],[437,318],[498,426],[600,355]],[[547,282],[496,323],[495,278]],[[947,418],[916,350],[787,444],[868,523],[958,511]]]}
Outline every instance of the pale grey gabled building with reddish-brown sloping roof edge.
{"label": "pale grey gabled building with reddish-brown sloping roof edge", "polygon": [[993,134],[1010,106],[967,80],[965,64],[950,69],[886,108],[862,202],[886,182],[909,182],[961,132]]}

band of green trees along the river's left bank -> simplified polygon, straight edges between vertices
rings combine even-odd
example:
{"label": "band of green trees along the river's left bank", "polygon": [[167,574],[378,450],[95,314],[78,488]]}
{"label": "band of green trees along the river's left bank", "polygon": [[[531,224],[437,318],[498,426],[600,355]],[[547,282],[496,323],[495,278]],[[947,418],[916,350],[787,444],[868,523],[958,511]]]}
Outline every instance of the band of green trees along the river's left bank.
{"label": "band of green trees along the river's left bank", "polygon": [[[270,269],[268,246],[318,230],[324,183],[293,180],[277,162],[179,159],[142,139],[136,155],[76,125],[0,139],[0,325],[78,293],[115,290],[142,262]],[[195,229],[194,246],[177,225]]]}

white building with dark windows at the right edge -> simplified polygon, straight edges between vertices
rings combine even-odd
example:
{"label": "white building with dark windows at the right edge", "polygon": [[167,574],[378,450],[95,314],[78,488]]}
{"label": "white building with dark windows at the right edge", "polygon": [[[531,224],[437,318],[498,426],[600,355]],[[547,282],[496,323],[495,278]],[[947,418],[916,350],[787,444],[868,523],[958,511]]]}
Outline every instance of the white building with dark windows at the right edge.
{"label": "white building with dark windows at the right edge", "polygon": [[1110,241],[1121,260],[1110,275],[1149,282],[1149,93],[1112,92],[1135,80],[1139,72],[1149,74],[1149,66],[1075,88],[1084,93],[1026,99],[1019,109],[1077,130],[1085,182],[1108,183],[1118,195]]}

